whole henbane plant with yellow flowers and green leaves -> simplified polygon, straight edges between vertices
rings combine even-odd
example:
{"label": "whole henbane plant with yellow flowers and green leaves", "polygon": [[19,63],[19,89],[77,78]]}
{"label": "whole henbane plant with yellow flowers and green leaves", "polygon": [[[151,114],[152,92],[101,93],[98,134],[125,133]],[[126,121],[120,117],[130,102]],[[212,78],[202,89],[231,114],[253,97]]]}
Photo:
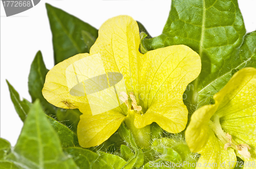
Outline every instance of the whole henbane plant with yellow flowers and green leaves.
{"label": "whole henbane plant with yellow flowers and green leaves", "polygon": [[256,33],[236,0],[173,0],[154,38],[130,16],[96,30],[46,8],[56,65],[36,54],[32,103],[7,81],[24,127],[0,168],[255,167]]}

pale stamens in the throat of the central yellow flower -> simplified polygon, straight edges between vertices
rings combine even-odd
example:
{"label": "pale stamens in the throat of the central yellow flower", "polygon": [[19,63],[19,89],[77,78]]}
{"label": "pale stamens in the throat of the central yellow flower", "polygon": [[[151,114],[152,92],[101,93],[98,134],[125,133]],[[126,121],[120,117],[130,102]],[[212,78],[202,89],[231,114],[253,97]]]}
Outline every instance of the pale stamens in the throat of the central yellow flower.
{"label": "pale stamens in the throat of the central yellow flower", "polygon": [[137,101],[135,99],[134,93],[131,92],[130,93],[130,98],[132,99],[132,105],[130,105],[129,103],[129,96],[125,93],[125,92],[120,92],[119,93],[121,95],[120,100],[122,100],[125,105],[128,107],[128,110],[135,110],[138,114],[143,115],[142,107],[137,105]]}

